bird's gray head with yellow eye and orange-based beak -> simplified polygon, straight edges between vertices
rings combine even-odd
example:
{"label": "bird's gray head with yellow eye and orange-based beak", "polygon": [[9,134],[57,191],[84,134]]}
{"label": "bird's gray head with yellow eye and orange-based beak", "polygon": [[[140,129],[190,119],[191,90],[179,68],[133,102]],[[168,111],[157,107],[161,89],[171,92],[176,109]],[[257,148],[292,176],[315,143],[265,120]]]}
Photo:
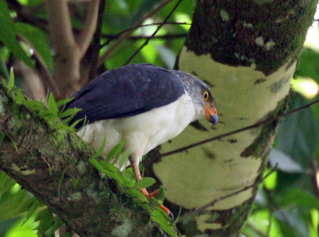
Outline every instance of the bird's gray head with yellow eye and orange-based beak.
{"label": "bird's gray head with yellow eye and orange-based beak", "polygon": [[215,98],[207,85],[189,73],[177,70],[172,70],[172,73],[182,80],[186,92],[192,98],[197,113],[196,119],[205,118],[216,125],[218,116],[215,108]]}

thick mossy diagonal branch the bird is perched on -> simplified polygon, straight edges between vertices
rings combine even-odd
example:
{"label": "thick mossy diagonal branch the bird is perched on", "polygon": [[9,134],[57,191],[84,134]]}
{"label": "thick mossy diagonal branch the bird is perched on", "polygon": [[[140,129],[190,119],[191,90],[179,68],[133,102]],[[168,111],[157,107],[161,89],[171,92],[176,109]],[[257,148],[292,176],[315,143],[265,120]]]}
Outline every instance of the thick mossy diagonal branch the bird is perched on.
{"label": "thick mossy diagonal branch the bird is perched on", "polygon": [[[93,149],[14,101],[0,84],[0,168],[48,205],[80,236],[161,235],[149,214],[102,179],[88,159]],[[12,141],[16,144],[12,145]],[[138,224],[137,224],[138,223]]]}

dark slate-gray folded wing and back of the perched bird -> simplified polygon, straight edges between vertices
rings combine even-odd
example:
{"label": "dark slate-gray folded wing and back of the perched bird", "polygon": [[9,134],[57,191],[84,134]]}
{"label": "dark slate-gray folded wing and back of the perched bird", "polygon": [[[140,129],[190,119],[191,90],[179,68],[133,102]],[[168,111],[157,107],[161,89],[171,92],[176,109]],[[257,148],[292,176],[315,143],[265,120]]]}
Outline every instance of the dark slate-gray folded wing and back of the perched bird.
{"label": "dark slate-gray folded wing and back of the perched bird", "polygon": [[181,79],[171,71],[151,64],[131,64],[92,80],[72,96],[74,100],[65,109],[82,109],[70,123],[85,116],[92,123],[137,115],[172,103],[183,93]]}

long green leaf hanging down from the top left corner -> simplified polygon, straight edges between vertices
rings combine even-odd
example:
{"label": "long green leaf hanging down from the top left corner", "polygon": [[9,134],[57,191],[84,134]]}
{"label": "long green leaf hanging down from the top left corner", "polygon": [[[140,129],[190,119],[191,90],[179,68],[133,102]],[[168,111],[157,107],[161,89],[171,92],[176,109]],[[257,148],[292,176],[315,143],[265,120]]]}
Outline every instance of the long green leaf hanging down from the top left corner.
{"label": "long green leaf hanging down from the top left corner", "polygon": [[15,25],[10,16],[10,10],[4,0],[0,0],[0,41],[7,47],[19,60],[33,68],[31,59],[21,48],[15,31]]}

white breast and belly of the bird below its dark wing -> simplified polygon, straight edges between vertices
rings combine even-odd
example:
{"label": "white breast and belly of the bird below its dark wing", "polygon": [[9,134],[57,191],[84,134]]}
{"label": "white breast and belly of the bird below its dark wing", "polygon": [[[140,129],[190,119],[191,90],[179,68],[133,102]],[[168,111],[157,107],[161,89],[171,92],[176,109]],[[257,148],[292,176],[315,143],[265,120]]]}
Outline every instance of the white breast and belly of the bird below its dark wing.
{"label": "white breast and belly of the bird below its dark wing", "polygon": [[[141,157],[178,134],[195,119],[191,98],[184,94],[165,106],[127,118],[107,119],[88,124],[78,131],[83,140],[98,150],[107,136],[103,157],[121,140],[133,157]],[[139,160],[140,161],[140,160]]]}

